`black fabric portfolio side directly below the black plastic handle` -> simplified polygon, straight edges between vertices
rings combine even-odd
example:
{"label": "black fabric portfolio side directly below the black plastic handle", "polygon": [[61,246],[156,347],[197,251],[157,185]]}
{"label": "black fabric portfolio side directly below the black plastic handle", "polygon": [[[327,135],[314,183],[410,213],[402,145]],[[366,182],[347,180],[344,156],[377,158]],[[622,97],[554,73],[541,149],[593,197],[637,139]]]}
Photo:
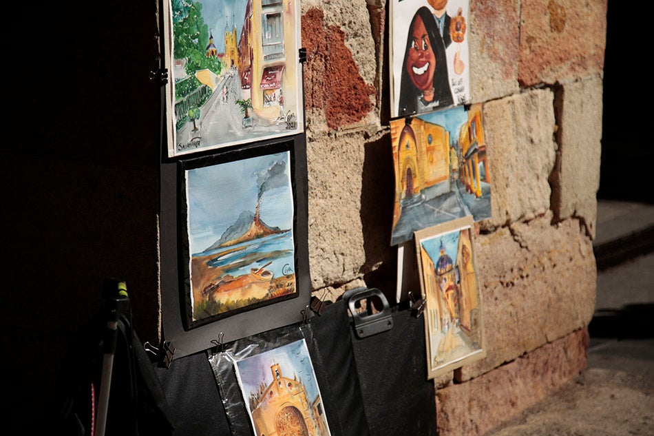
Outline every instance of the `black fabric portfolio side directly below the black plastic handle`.
{"label": "black fabric portfolio side directly below the black plastic handle", "polygon": [[363,407],[374,436],[436,436],[434,383],[427,379],[425,320],[392,312],[393,327],[358,339],[350,329]]}

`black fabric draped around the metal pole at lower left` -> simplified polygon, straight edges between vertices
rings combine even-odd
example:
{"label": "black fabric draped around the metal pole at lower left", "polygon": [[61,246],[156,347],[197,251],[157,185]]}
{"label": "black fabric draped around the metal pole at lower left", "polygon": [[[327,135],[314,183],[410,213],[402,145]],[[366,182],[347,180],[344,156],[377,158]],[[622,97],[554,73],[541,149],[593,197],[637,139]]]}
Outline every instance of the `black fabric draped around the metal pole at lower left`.
{"label": "black fabric draped around the metal pole at lower left", "polygon": [[[121,315],[114,331],[107,328],[105,315],[100,311],[85,324],[67,352],[59,380],[53,434],[92,436],[94,424],[96,433],[99,430],[98,416],[106,412],[107,436],[172,435],[171,412],[131,320]],[[105,354],[103,342],[115,343],[115,347],[107,349],[110,354]],[[111,372],[103,373],[109,358]],[[107,409],[100,411],[104,377],[111,377],[111,386]],[[91,400],[91,386],[95,404]]]}

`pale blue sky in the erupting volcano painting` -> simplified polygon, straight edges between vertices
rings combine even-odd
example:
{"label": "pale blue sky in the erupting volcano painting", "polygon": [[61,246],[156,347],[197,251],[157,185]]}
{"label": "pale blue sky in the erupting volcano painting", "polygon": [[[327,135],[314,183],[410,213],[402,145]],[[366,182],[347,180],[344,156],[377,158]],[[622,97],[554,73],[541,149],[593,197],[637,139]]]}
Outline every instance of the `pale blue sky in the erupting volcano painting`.
{"label": "pale blue sky in the erupting volcano painting", "polygon": [[[285,171],[276,178],[277,185],[264,190],[260,216],[266,225],[293,227],[293,191],[289,174],[288,152],[268,154],[187,171],[187,201],[191,252],[213,244],[236,222],[242,211],[255,213],[259,182],[273,166]],[[279,181],[283,183],[279,183]]]}

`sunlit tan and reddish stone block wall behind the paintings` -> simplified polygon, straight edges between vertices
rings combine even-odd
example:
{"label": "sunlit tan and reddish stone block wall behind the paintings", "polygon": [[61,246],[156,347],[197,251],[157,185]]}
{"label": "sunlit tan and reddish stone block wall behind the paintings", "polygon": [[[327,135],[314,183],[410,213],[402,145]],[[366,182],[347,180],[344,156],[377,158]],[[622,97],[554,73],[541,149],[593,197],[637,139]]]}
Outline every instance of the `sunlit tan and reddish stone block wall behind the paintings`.
{"label": "sunlit tan and reddish stone block wall behind the paintings", "polygon": [[[386,1],[302,2],[315,295],[394,295]],[[434,380],[441,436],[481,435],[585,367],[595,308],[606,0],[470,1],[492,169],[475,243],[487,355]],[[416,272],[417,273],[417,272]]]}

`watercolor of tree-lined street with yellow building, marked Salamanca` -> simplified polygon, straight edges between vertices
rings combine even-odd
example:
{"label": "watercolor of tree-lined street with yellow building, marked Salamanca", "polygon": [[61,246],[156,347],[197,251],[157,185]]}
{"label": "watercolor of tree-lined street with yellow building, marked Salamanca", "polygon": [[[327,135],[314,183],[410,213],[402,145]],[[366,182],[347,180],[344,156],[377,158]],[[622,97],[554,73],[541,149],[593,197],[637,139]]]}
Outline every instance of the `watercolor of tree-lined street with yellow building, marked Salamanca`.
{"label": "watercolor of tree-lined street with yellow building, marked Salamanca", "polygon": [[169,157],[304,129],[297,0],[166,0]]}

